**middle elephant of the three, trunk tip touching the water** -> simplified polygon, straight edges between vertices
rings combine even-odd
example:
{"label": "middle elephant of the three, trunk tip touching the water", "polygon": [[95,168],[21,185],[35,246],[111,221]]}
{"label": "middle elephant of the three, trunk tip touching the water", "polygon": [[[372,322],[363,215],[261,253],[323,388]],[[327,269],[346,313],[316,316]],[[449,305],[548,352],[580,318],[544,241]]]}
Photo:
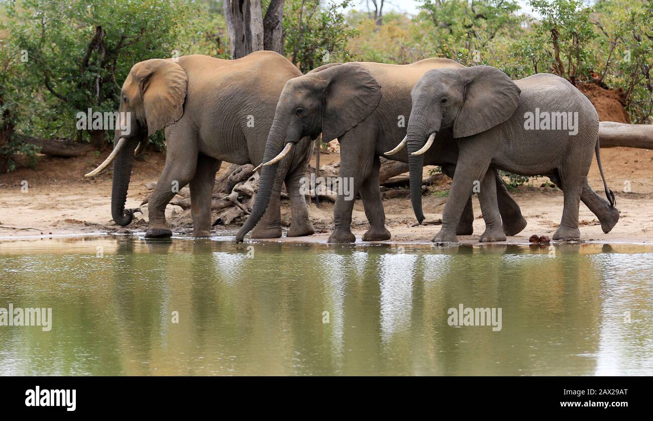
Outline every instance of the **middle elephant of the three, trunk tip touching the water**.
{"label": "middle elephant of the three, trunk tip touching the water", "polygon": [[[268,136],[259,194],[251,215],[236,235],[236,241],[242,241],[266,211],[279,161],[283,162],[285,154],[294,150],[298,140],[304,136],[315,138],[319,133],[325,142],[338,138],[340,177],[351,180],[346,184],[353,189],[336,199],[336,228],[328,242],[356,240],[350,228],[354,201],[345,198],[355,198],[357,193],[362,197],[370,221],[370,229],[362,240],[388,240],[390,232],[385,228],[379,191],[379,156],[392,149],[396,136],[406,134],[402,121],[410,114],[411,89],[424,72],[461,67],[455,61],[441,58],[424,59],[411,65],[330,63],[289,80],[279,97]],[[445,173],[453,176],[458,158],[457,145],[451,134],[449,138],[445,138],[444,133],[440,137],[441,148],[428,155],[428,162],[441,165]],[[391,158],[408,161],[405,150]],[[526,221],[498,176],[496,183],[504,228],[509,235],[517,234],[526,226]],[[471,198],[468,196],[467,199],[466,216],[458,227],[458,234],[471,234],[473,230]]]}

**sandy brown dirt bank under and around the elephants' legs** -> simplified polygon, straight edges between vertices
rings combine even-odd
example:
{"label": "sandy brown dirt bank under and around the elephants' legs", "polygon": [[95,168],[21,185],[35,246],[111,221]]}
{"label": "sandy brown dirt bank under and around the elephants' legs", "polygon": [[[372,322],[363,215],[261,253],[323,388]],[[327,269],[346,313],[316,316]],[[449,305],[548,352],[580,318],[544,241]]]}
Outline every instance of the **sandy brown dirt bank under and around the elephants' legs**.
{"label": "sandy brown dirt bank under and around the elephants' legs", "polygon": [[[80,234],[91,232],[144,232],[146,215],[138,215],[132,225],[125,228],[111,220],[111,176],[107,172],[95,179],[84,174],[102,162],[108,152],[100,157],[89,153],[75,159],[41,157],[37,170],[20,168],[0,177],[0,240],[20,237],[50,236],[56,234]],[[653,243],[653,151],[632,148],[601,149],[603,168],[608,185],[617,198],[621,212],[620,221],[612,232],[603,234],[596,217],[581,204],[581,240],[599,242]],[[321,164],[340,160],[338,153],[323,153]],[[144,153],[144,160],[136,161],[127,208],[138,208],[148,195],[144,184],[156,181],[163,169],[163,153]],[[221,172],[229,168],[223,164]],[[601,178],[594,162],[589,174],[590,185],[603,196]],[[511,194],[522,208],[528,226],[508,242],[525,243],[532,234],[551,236],[562,215],[562,192],[552,187],[541,187],[546,179],[532,179],[528,186],[518,187]],[[624,193],[624,183],[629,181],[631,193]],[[25,186],[27,188],[25,189]],[[424,196],[426,220],[441,217],[447,200],[447,185],[439,185]],[[478,234],[485,229],[480,218],[480,207],[474,199],[473,236],[461,237],[464,243],[475,243]],[[415,222],[408,198],[383,200],[387,226],[392,232],[392,242],[426,242],[438,232],[438,225],[411,227]],[[188,227],[175,226],[174,206],[168,206],[168,221],[174,232],[186,233]],[[177,208],[180,209],[180,208]],[[146,208],[144,209],[146,211]],[[289,223],[288,202],[282,208],[285,224]],[[318,233],[311,237],[281,241],[326,242],[333,227],[333,204],[325,202],[321,208],[310,205],[311,219]],[[172,216],[172,217],[170,217]],[[237,226],[214,227],[215,235],[233,234]],[[362,202],[357,200],[353,214],[353,232],[358,240],[367,230],[367,220]]]}

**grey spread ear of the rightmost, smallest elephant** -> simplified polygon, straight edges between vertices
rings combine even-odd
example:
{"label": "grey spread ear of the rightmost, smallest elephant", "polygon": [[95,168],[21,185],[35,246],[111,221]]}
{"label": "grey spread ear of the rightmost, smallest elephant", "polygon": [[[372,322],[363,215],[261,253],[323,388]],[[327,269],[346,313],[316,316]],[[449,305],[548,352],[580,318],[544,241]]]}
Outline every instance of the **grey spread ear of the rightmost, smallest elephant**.
{"label": "grey spread ear of the rightmost, smallest elephant", "polygon": [[521,89],[499,69],[491,66],[456,70],[465,95],[453,125],[453,136],[464,138],[484,132],[509,119],[517,110]]}

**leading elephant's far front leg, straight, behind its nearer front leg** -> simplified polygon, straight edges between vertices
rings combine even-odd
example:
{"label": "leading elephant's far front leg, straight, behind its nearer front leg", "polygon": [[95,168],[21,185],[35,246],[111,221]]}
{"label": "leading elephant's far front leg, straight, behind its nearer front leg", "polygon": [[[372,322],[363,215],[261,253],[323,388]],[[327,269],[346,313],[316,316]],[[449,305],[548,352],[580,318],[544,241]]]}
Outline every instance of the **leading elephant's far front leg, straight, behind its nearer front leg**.
{"label": "leading elephant's far front leg, straight, behind its nearer front leg", "polygon": [[195,176],[191,179],[191,216],[193,217],[193,237],[211,235],[211,196],[215,183],[215,172],[222,161],[200,153],[197,156]]}

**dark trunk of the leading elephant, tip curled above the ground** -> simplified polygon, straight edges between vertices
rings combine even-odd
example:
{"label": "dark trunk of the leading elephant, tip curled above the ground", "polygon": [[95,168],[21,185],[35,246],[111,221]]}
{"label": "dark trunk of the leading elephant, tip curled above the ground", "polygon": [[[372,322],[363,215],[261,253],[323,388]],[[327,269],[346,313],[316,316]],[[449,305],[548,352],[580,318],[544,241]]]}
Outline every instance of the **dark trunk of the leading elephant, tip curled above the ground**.
{"label": "dark trunk of the leading elephant, tip curled above the ground", "polygon": [[[119,133],[116,131],[116,140]],[[127,189],[129,188],[129,178],[131,168],[134,164],[134,149],[138,144],[138,138],[129,138],[127,143],[118,152],[114,159],[114,177],[111,189],[111,216],[116,224],[126,226],[131,223],[134,217],[134,211],[125,210],[127,202]]]}

